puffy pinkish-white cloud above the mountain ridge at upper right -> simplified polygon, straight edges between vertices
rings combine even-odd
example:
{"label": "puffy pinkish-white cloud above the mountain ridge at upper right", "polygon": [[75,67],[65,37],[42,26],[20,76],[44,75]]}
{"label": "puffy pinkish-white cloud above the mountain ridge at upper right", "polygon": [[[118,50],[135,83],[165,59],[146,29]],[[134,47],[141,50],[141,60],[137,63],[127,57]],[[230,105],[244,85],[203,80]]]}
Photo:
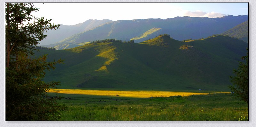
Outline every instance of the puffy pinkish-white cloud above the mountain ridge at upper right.
{"label": "puffy pinkish-white cloud above the mountain ridge at upper right", "polygon": [[189,16],[189,17],[209,17],[209,18],[217,18],[217,17],[223,17],[226,14],[221,14],[217,12],[203,12],[203,11],[186,11],[184,10],[183,12],[184,16]]}

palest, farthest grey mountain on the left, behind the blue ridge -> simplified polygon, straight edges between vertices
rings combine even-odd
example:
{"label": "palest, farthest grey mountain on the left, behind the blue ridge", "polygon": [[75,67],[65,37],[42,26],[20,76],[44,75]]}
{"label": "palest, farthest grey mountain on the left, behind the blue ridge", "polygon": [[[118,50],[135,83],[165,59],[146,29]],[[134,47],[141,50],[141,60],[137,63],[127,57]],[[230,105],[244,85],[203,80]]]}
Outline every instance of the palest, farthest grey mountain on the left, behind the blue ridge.
{"label": "palest, farthest grey mountain on the left, behind the blue ridge", "polygon": [[[111,22],[111,20],[103,19],[103,20],[86,20],[83,23],[79,23],[76,25],[60,25],[60,29],[54,30],[48,30],[44,34],[47,35],[45,39],[40,41],[40,45],[50,45],[57,43],[60,40],[63,40],[67,37],[70,37],[74,34],[84,32],[87,30],[90,30],[96,26],[105,24],[107,22]],[[50,47],[50,46],[47,46]],[[54,46],[52,46],[54,47]]]}

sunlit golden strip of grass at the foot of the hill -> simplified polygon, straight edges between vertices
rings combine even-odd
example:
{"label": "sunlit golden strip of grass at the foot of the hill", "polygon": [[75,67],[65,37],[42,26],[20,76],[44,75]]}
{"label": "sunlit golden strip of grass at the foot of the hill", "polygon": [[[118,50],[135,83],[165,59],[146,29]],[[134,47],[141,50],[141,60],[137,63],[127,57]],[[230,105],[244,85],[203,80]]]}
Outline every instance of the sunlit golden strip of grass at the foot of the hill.
{"label": "sunlit golden strip of grass at the foot of the hill", "polygon": [[[62,94],[81,94],[81,95],[101,95],[101,96],[122,96],[122,97],[136,97],[136,98],[148,98],[148,97],[169,97],[169,96],[189,96],[189,95],[206,95],[209,93],[220,92],[171,92],[171,91],[116,91],[116,90],[83,90],[83,89],[50,89],[49,93],[62,93]],[[228,93],[228,92],[221,92]]]}

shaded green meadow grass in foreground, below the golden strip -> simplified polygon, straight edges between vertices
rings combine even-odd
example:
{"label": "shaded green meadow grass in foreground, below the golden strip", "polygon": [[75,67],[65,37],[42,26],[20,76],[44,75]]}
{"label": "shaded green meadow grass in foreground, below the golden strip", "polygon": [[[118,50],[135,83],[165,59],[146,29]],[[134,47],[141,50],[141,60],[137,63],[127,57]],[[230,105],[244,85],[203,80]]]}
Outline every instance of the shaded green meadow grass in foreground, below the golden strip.
{"label": "shaded green meadow grass in foreground, below the golden strip", "polygon": [[[51,93],[54,95],[55,93]],[[71,99],[64,121],[247,121],[248,104],[231,94],[153,98],[59,94]]]}

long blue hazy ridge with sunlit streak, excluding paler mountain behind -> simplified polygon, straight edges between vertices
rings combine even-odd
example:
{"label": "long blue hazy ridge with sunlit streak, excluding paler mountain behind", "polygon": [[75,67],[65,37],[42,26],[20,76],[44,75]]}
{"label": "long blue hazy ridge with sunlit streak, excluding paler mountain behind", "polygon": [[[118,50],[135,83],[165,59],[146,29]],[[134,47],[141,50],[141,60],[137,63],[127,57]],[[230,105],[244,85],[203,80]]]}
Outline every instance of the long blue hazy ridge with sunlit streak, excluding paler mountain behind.
{"label": "long blue hazy ridge with sunlit streak, excluding paler mountain behind", "polygon": [[[59,43],[82,43],[98,39],[135,39],[142,42],[159,34],[170,34],[173,39],[199,39],[223,33],[248,20],[248,16],[175,17],[167,19],[118,20],[78,33]],[[157,28],[157,30],[156,30]],[[156,30],[156,31],[154,31]],[[151,32],[150,32],[151,31]]]}

